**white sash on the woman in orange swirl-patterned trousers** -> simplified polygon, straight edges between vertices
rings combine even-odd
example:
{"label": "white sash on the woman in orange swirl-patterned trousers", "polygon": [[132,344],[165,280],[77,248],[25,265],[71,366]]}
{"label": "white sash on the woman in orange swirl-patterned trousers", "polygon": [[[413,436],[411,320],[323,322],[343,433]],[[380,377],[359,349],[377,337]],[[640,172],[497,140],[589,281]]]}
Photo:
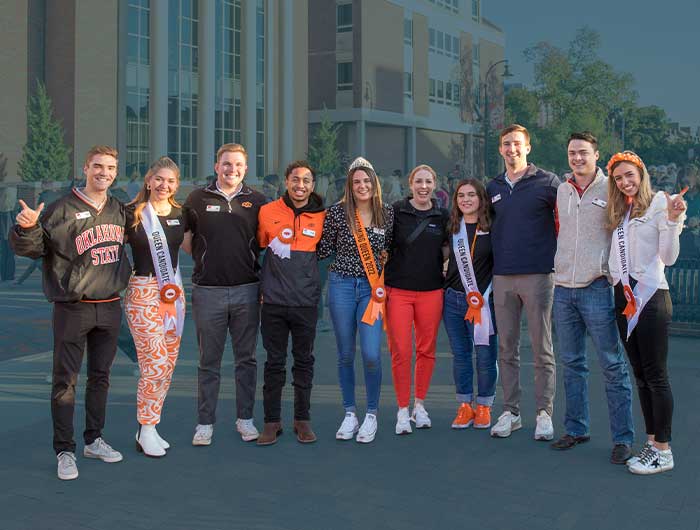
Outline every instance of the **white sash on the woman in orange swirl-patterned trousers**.
{"label": "white sash on the woman in orange swirl-patterned trousers", "polygon": [[[178,270],[173,269],[168,240],[165,237],[163,226],[160,224],[156,211],[150,202],[146,203],[146,207],[143,209],[141,224],[143,224],[143,229],[146,232],[148,245],[151,247],[151,259],[153,260],[153,268],[156,271],[159,290],[163,289],[163,286],[168,283],[174,283],[184,293],[180,268],[178,267]],[[185,301],[183,298],[183,296],[178,296],[175,300],[175,315],[166,311],[163,316],[164,331],[175,329],[178,337],[182,336],[182,328],[185,322]],[[160,304],[163,303],[160,295],[158,302]]]}

